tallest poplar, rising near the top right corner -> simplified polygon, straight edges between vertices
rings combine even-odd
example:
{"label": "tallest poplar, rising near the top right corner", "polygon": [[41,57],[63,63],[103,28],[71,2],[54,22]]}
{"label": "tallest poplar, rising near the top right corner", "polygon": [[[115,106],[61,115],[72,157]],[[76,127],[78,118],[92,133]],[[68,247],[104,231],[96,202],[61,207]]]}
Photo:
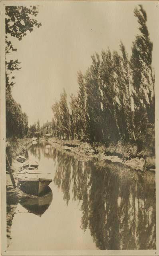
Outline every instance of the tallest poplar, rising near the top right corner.
{"label": "tallest poplar, rising near the top right corner", "polygon": [[[147,29],[147,15],[142,5],[135,8],[134,15],[139,23],[139,31],[132,46],[130,60],[133,101],[134,124],[138,138],[142,139],[149,123],[155,121],[155,79],[152,70],[153,43]],[[144,122],[143,122],[144,120]]]}

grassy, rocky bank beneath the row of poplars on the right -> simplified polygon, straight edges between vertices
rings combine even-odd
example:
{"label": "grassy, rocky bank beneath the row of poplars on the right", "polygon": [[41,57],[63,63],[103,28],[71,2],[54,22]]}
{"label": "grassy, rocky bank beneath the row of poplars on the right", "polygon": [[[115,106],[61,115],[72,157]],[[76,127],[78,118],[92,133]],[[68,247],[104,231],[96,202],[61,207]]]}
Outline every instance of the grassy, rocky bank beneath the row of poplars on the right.
{"label": "grassy, rocky bank beneath the row of poplars on the right", "polygon": [[99,160],[122,162],[134,169],[155,170],[155,156],[148,148],[138,152],[137,146],[121,142],[116,145],[110,144],[108,147],[99,143],[89,144],[79,140],[60,140],[58,138],[51,138],[49,142],[56,148],[76,154],[79,159],[89,160],[95,157]]}

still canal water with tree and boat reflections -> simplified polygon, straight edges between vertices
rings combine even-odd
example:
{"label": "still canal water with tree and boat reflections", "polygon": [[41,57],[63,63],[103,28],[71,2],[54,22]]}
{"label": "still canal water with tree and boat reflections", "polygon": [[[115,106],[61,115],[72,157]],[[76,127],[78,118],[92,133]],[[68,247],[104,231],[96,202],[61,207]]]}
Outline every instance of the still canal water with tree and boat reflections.
{"label": "still canal water with tree and boat reflections", "polygon": [[156,248],[155,174],[83,162],[46,143],[32,145],[28,156],[53,182],[41,198],[22,193],[8,203],[8,250]]}

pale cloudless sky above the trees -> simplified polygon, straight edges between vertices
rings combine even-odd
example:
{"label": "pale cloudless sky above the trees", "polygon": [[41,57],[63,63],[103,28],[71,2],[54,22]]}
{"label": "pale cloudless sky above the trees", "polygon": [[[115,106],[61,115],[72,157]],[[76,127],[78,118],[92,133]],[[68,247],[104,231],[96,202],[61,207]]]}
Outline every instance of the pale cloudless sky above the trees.
{"label": "pale cloudless sky above the trees", "polygon": [[[42,3],[42,4],[41,4]],[[153,66],[157,66],[158,3],[154,2],[40,2],[38,22],[27,36],[12,38],[17,52],[8,58],[18,59],[22,67],[14,72],[13,98],[29,118],[29,125],[51,121],[52,104],[65,88],[77,94],[77,72],[83,74],[91,64],[91,55],[101,50],[119,51],[122,40],[131,55],[132,42],[139,33],[133,10],[143,4],[147,26],[153,42]]]}

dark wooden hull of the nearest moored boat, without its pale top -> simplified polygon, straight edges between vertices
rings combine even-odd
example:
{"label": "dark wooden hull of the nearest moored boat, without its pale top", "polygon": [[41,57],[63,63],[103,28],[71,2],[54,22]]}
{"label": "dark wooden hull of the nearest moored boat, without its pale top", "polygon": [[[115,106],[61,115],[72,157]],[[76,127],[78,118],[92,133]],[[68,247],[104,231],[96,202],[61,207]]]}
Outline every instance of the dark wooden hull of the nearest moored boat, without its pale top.
{"label": "dark wooden hull of the nearest moored boat, without its pale top", "polygon": [[38,180],[19,180],[20,182],[20,190],[27,194],[31,194],[34,196],[40,196],[42,195],[46,188],[48,188],[50,182],[52,182],[52,179],[44,179],[39,178]]}

